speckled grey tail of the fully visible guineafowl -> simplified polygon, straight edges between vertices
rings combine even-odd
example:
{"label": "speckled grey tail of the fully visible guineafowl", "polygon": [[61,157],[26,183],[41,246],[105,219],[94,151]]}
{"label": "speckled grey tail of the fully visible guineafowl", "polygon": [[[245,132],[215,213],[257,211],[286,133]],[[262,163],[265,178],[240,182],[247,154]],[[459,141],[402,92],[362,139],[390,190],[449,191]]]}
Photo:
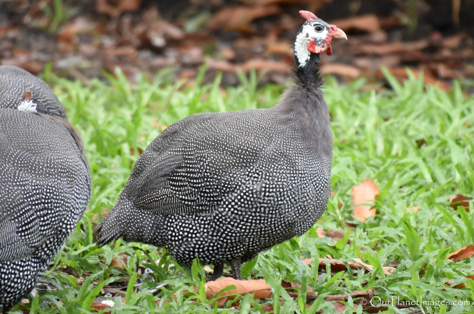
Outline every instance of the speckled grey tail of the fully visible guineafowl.
{"label": "speckled grey tail of the fully visible guineafowl", "polygon": [[161,234],[163,220],[163,216],[137,208],[132,202],[119,197],[114,209],[94,230],[97,244],[104,245],[123,238],[128,242],[164,246],[165,239]]}

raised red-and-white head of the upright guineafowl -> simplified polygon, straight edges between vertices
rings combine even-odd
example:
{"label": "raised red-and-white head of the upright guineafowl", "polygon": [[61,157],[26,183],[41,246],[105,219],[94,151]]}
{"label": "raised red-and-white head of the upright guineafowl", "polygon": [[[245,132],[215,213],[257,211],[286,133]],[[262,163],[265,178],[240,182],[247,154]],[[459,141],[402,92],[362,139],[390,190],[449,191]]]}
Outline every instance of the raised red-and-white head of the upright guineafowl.
{"label": "raised red-and-white head of the upright guineafowl", "polygon": [[308,65],[312,59],[319,63],[319,54],[326,51],[332,55],[331,44],[334,39],[345,38],[346,34],[336,25],[329,25],[310,11],[300,11],[306,21],[301,26],[295,40],[295,61],[298,68]]}

